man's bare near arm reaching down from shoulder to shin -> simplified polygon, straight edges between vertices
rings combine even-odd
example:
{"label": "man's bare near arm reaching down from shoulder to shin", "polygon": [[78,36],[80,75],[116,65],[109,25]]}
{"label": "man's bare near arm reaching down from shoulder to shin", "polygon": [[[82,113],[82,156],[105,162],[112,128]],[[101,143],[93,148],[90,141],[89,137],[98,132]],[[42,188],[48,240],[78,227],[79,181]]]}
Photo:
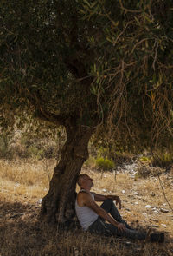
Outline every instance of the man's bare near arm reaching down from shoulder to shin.
{"label": "man's bare near arm reaching down from shoulder to shin", "polygon": [[106,211],[99,207],[95,201],[93,200],[92,196],[90,194],[83,193],[82,194],[82,201],[83,204],[86,207],[90,207],[95,213],[97,213],[101,218],[104,220],[107,220],[109,223],[111,223],[113,226],[116,226],[119,231],[125,231],[125,225],[122,223],[119,223],[118,221],[114,220],[112,216],[110,216]]}

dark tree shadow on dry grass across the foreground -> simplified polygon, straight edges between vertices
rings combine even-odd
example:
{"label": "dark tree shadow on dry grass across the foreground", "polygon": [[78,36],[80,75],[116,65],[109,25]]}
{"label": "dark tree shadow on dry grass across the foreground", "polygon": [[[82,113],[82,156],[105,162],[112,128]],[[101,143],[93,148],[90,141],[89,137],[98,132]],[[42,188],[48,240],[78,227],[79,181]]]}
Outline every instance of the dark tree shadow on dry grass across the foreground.
{"label": "dark tree shadow on dry grass across the foreground", "polygon": [[61,256],[170,256],[172,239],[166,234],[163,245],[133,242],[120,238],[101,238],[75,227],[58,230],[38,221],[39,205],[0,202],[0,255]]}

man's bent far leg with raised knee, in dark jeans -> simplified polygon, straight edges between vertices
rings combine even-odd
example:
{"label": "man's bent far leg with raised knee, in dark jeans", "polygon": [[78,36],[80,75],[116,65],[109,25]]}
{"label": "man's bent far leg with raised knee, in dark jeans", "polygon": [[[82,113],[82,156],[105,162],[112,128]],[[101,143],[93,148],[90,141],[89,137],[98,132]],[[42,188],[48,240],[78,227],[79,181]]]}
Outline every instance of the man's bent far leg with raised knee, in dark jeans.
{"label": "man's bent far leg with raised knee, in dark jeans", "polygon": [[115,206],[115,204],[113,203],[113,201],[111,199],[105,200],[100,207],[102,207],[104,210],[106,210],[106,213],[110,213],[112,215],[113,219],[117,220],[120,223],[125,224],[126,228],[133,230],[133,228],[131,226],[129,226],[125,222],[125,220],[122,219],[117,207]]}

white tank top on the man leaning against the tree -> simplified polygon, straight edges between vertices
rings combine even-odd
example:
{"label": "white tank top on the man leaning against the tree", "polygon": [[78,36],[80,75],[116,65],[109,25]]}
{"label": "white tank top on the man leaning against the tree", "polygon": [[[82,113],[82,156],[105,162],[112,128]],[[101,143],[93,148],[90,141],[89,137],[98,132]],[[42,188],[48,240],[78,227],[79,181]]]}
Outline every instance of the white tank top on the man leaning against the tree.
{"label": "white tank top on the man leaning against the tree", "polygon": [[[86,191],[84,189],[80,190],[81,191]],[[88,193],[88,192],[87,192]],[[90,193],[91,196],[93,197],[94,200],[94,195]],[[77,198],[75,201],[75,211],[76,215],[78,217],[78,220],[80,221],[80,226],[84,229],[87,230],[89,226],[93,224],[95,220],[98,218],[98,214],[95,213],[90,207],[80,207],[77,202]]]}

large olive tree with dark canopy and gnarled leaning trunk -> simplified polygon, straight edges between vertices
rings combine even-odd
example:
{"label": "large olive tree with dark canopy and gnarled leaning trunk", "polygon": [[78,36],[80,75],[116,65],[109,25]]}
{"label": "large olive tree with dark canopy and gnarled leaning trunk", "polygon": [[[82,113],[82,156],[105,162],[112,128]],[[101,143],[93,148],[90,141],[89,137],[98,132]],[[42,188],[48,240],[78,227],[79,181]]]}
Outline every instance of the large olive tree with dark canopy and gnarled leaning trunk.
{"label": "large olive tree with dark canopy and gnarled leaning trunk", "polygon": [[[1,0],[0,108],[63,126],[42,217],[74,216],[91,136],[153,147],[172,136],[172,1]],[[161,140],[162,141],[162,140]]]}

